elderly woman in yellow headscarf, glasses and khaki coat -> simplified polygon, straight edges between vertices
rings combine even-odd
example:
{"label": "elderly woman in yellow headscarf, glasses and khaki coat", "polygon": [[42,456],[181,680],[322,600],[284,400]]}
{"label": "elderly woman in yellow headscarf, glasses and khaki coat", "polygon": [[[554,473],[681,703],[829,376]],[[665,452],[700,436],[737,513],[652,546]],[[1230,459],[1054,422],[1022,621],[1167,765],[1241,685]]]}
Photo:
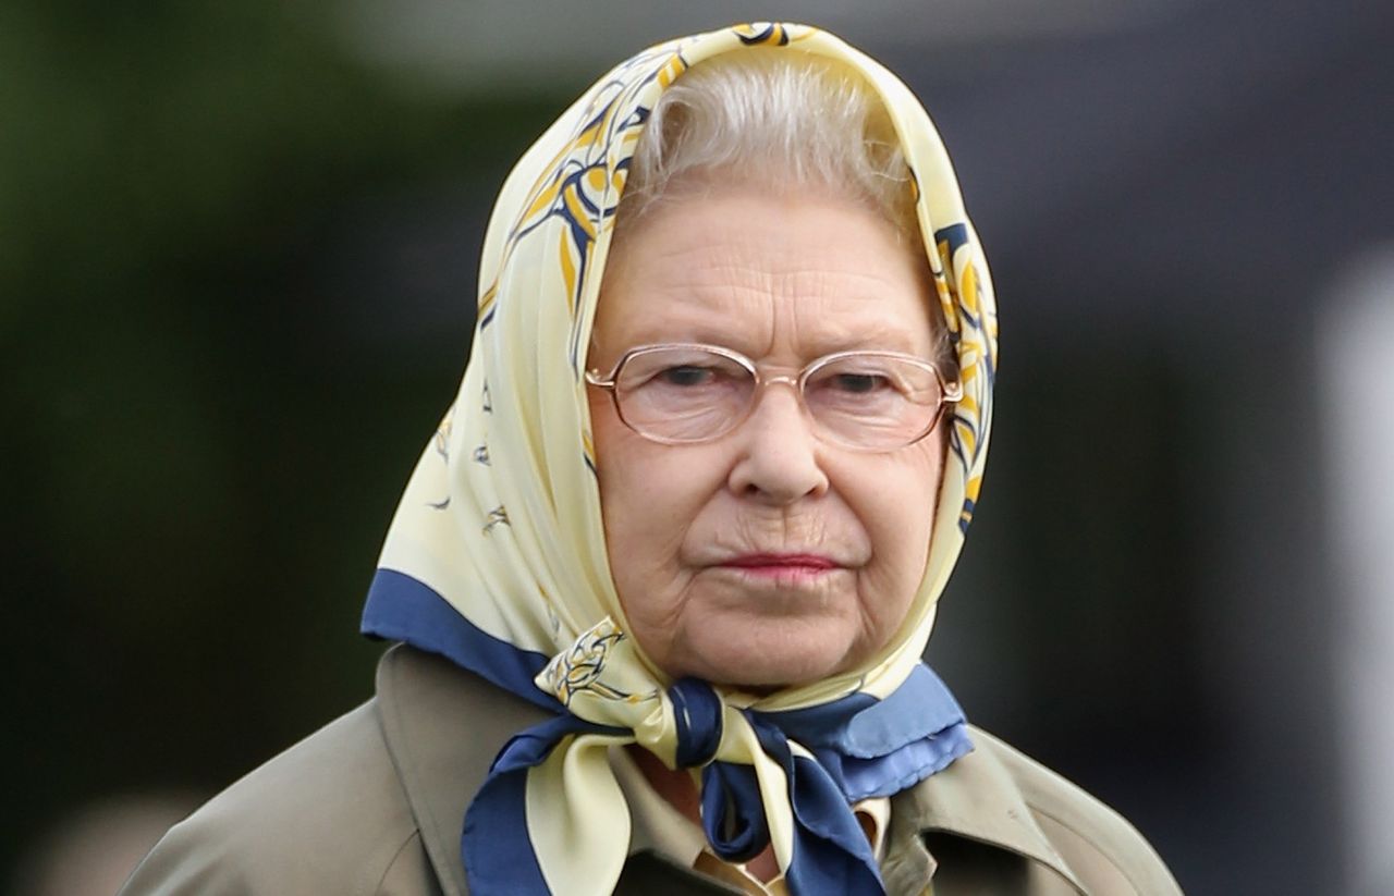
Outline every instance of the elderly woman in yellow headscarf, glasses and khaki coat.
{"label": "elderly woman in yellow headscarf, glasses and khaki coat", "polygon": [[620,64],[503,185],[375,700],[124,892],[1177,892],[920,662],[995,364],[895,77],[795,25]]}

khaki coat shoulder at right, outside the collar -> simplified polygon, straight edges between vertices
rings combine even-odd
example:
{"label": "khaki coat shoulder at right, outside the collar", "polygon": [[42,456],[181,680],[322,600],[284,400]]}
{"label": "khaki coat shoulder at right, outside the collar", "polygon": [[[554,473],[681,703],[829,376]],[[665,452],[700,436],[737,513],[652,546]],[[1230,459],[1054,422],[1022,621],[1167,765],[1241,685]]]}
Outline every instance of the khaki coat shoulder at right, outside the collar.
{"label": "khaki coat shoulder at right, outside the collar", "polygon": [[1165,863],[1122,815],[987,732],[973,729],[973,743],[1011,776],[1036,826],[1086,892],[1181,893]]}

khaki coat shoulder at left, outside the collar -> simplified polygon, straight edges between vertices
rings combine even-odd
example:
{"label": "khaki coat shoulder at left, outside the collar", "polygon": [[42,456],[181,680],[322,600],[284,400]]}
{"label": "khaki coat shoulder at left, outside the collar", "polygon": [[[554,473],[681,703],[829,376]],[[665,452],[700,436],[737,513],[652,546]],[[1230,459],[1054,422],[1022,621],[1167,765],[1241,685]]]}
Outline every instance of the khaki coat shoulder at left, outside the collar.
{"label": "khaki coat shoulder at left, outside the collar", "polygon": [[180,822],[121,896],[439,893],[375,701]]}

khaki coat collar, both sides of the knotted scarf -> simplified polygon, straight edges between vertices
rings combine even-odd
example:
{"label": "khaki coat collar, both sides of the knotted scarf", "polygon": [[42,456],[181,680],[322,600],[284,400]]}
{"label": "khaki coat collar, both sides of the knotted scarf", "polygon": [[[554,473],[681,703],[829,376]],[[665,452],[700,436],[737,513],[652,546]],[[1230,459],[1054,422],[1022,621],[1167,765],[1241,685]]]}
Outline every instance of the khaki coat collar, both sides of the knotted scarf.
{"label": "khaki coat collar, both sides of the knotted scarf", "polygon": [[[407,645],[383,655],[376,690],[388,751],[427,856],[446,896],[461,896],[468,892],[460,860],[464,810],[503,744],[548,713]],[[920,839],[926,832],[997,846],[1054,870],[1083,892],[997,759],[997,741],[976,729],[972,736],[977,750],[892,797],[884,868],[891,892],[919,892],[933,874],[934,858]]]}

